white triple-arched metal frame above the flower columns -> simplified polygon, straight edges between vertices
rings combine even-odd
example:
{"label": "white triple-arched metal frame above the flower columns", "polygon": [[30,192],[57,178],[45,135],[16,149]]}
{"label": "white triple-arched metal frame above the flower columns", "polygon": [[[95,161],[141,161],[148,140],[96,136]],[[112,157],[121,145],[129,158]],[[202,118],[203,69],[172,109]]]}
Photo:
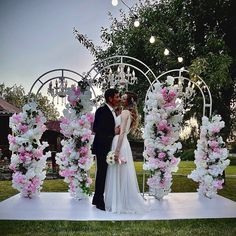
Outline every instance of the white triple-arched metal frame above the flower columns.
{"label": "white triple-arched metal frame above the flower columns", "polygon": [[[163,80],[163,77],[165,76],[172,76],[174,79],[182,78],[183,80],[189,81],[190,83],[194,84],[201,92],[201,95],[203,97],[203,116],[206,115],[206,110],[208,111],[208,116],[212,113],[212,97],[210,90],[203,79],[201,79],[199,76],[195,76],[195,80],[191,80],[189,76],[189,71],[185,69],[174,69],[167,72],[162,73],[158,77],[154,74],[154,72],[142,61],[129,56],[123,56],[123,55],[116,55],[112,56],[106,59],[103,59],[101,61],[98,61],[95,63],[91,69],[85,73],[85,75],[81,75],[75,71],[68,70],[68,69],[55,69],[48,71],[36,79],[36,81],[33,83],[30,91],[29,91],[29,97],[30,94],[34,92],[34,89],[38,87],[36,90],[36,96],[41,91],[43,86],[45,86],[47,83],[49,83],[52,80],[56,80],[58,78],[65,78],[68,80],[71,80],[73,82],[79,82],[81,80],[86,80],[89,83],[89,86],[94,94],[94,97],[96,98],[95,90],[93,89],[94,80],[102,74],[106,69],[119,66],[120,64],[123,64],[125,66],[130,66],[131,68],[139,71],[149,82],[149,88],[146,92],[145,102],[147,99],[147,93],[150,89],[152,89],[152,86],[155,82]],[[54,75],[53,75],[54,74]],[[145,172],[143,173],[143,194],[144,194],[144,186],[145,186]]]}

